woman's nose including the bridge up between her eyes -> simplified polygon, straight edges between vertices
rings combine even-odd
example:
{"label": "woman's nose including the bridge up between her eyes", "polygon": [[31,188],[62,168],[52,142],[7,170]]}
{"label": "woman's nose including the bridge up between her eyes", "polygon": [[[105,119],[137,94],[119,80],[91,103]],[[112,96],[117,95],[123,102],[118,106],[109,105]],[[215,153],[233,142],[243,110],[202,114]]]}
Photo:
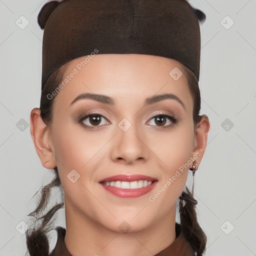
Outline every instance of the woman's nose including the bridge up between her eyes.
{"label": "woman's nose including the bridge up between her eyes", "polygon": [[[134,117],[134,116],[133,116]],[[113,160],[123,159],[132,162],[147,158],[147,148],[143,144],[142,127],[138,127],[134,118],[123,118],[116,126],[111,157]]]}

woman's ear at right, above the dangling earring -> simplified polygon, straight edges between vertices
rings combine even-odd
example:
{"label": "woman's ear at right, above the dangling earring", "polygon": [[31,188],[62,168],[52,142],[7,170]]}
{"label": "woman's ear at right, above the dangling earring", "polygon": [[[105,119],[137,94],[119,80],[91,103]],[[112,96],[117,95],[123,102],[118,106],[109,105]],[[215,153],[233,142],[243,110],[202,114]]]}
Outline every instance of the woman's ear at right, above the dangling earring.
{"label": "woman's ear at right, above the dangling earring", "polygon": [[[199,163],[202,159],[202,156],[206,148],[209,128],[210,128],[209,119],[207,115],[203,114],[195,128],[194,149],[192,152],[192,155],[198,156],[196,160],[199,161]],[[192,164],[189,167],[191,168]]]}

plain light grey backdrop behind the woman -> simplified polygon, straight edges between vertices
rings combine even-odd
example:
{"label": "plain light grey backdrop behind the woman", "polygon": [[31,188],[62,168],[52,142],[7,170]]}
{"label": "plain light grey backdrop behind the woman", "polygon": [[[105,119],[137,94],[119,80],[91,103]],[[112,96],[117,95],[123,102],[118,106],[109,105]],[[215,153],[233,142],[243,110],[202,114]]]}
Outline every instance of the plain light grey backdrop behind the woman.
{"label": "plain light grey backdrop behind the woman", "polygon": [[[0,0],[0,256],[25,254],[20,232],[35,206],[30,198],[53,176],[42,167],[29,131],[41,83],[42,30],[36,18],[45,2]],[[206,255],[256,255],[256,1],[189,2],[207,16],[200,25],[199,86],[201,113],[211,127],[194,191],[208,237]],[[190,187],[191,180],[189,173]],[[52,203],[58,199],[56,189]],[[61,210],[56,224],[65,226],[64,217]],[[55,242],[53,231],[51,249]]]}

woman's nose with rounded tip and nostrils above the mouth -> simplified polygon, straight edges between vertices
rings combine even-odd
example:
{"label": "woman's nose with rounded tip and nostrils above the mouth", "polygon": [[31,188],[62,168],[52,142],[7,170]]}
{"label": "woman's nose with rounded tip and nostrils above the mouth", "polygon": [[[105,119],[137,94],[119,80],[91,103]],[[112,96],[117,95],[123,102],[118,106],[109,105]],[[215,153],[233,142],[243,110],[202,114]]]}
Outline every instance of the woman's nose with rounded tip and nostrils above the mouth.
{"label": "woman's nose with rounded tip and nostrils above the mouth", "polygon": [[146,146],[146,136],[132,124],[126,131],[116,127],[117,134],[112,140],[111,158],[116,162],[131,164],[148,159],[149,149]]}

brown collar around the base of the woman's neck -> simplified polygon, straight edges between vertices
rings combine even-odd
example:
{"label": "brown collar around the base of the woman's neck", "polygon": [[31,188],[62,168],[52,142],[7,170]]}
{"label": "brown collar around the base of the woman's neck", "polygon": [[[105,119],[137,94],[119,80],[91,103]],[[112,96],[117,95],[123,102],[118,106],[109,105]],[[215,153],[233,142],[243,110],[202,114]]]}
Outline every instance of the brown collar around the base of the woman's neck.
{"label": "brown collar around the base of the woman's neck", "polygon": [[[58,238],[56,245],[49,256],[72,256],[67,250],[64,237],[66,229],[58,226],[55,228],[58,233]],[[181,232],[181,226],[178,223],[175,223],[175,232],[176,239],[168,245],[166,248],[155,254],[154,256],[193,256],[194,252],[190,243],[184,238],[183,233]]]}

